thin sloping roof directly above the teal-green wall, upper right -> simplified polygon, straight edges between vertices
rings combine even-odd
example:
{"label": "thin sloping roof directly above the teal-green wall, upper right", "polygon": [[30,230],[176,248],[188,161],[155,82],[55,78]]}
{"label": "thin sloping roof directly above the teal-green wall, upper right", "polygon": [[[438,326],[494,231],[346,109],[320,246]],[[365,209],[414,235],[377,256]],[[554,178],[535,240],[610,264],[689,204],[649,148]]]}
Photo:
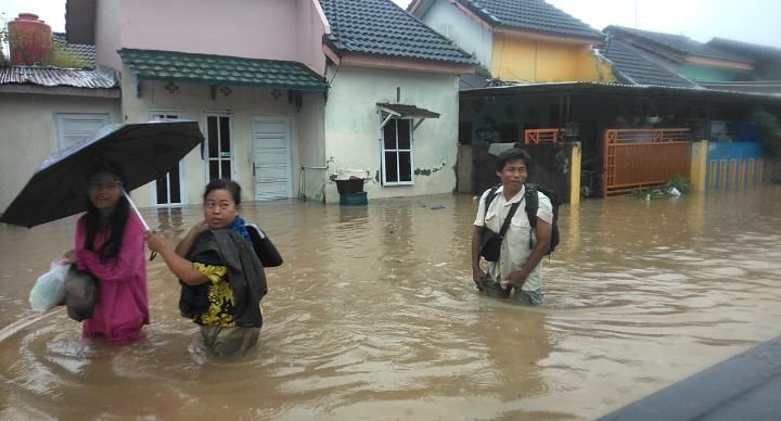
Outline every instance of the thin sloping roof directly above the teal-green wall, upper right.
{"label": "thin sloping roof directly above the teal-green wall, upper right", "polygon": [[742,55],[719,50],[706,43],[697,42],[684,35],[654,33],[616,25],[607,26],[604,28],[604,31],[622,38],[635,38],[681,55],[696,55],[713,60],[725,60],[746,64],[751,63],[751,60]]}

